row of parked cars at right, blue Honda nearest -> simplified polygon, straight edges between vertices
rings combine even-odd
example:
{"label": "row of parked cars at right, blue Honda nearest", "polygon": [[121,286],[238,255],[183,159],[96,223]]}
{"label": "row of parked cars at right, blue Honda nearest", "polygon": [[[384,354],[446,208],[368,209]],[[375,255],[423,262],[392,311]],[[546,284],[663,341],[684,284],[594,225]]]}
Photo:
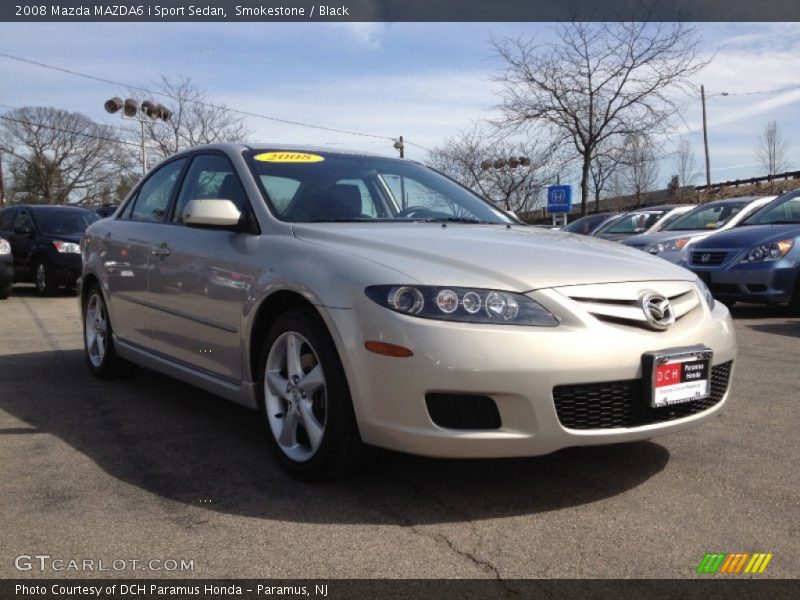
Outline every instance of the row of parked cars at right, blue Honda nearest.
{"label": "row of parked cars at right, blue Honda nearest", "polygon": [[617,240],[685,267],[728,305],[800,311],[800,190],[590,215],[564,231]]}

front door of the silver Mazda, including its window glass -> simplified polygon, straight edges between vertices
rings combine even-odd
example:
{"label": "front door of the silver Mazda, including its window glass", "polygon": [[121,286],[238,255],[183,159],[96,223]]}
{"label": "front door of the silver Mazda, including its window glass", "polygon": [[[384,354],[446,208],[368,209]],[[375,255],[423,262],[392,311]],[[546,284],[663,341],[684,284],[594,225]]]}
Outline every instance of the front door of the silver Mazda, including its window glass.
{"label": "front door of the silver Mazda, including its window glass", "polygon": [[187,227],[191,200],[230,200],[251,222],[252,210],[235,168],[222,153],[194,156],[172,209],[171,226],[155,240],[165,253],[153,258],[151,301],[160,313],[155,349],[199,370],[242,379],[241,321],[255,277],[251,233]]}

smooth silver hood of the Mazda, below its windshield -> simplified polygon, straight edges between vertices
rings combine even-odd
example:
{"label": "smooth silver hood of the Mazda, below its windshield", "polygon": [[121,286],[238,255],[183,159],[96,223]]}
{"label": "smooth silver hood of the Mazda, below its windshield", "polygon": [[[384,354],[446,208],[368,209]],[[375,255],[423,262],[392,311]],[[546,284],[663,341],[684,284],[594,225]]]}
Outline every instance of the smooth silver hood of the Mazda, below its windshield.
{"label": "smooth silver hood of the Mazda, below its windshield", "polygon": [[429,285],[528,291],[695,278],[683,268],[633,248],[524,226],[298,223],[293,229],[298,239],[360,256]]}

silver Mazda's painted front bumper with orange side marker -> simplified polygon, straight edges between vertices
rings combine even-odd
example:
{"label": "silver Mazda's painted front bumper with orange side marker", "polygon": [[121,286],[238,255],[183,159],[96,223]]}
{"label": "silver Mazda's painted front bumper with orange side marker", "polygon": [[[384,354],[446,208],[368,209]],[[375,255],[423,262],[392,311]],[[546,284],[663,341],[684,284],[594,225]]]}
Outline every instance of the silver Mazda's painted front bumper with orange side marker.
{"label": "silver Mazda's painted front bumper with orange side marker", "polygon": [[[723,410],[728,391],[696,414],[638,427],[568,429],[559,420],[554,388],[642,378],[642,355],[702,344],[712,364],[733,361],[736,344],[727,309],[700,307],[668,332],[604,323],[559,327],[470,325],[393,313],[369,300],[355,310],[330,309],[340,356],[365,442],[438,457],[534,456],[570,446],[610,444],[681,431]],[[586,325],[590,326],[586,326]],[[390,358],[364,348],[378,340],[410,348]],[[457,430],[434,424],[425,396],[464,393],[490,397],[501,426]]]}

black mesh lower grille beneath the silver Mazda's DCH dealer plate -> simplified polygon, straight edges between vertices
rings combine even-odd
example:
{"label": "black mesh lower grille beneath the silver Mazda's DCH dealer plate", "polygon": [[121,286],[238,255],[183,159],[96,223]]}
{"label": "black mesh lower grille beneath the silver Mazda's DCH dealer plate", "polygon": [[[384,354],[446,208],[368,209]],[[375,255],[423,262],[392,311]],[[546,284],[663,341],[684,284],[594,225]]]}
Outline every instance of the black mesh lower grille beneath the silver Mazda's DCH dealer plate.
{"label": "black mesh lower grille beneath the silver Mazda's DCH dealer plate", "polygon": [[559,385],[553,388],[556,413],[567,429],[641,427],[673,421],[708,410],[728,389],[732,361],[711,368],[708,398],[663,408],[651,408],[643,397],[641,379]]}

